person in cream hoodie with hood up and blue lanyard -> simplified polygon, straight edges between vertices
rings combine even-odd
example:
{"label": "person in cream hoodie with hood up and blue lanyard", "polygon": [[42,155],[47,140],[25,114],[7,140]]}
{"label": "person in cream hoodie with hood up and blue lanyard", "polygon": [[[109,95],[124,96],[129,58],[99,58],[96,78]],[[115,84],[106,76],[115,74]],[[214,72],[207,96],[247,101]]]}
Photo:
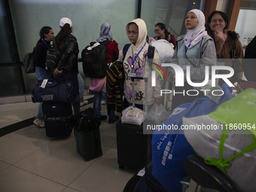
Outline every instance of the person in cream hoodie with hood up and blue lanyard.
{"label": "person in cream hoodie with hood up and blue lanyard", "polygon": [[[124,69],[124,96],[125,102],[128,102],[129,105],[133,104],[132,101],[132,81],[129,77],[130,75],[136,75],[136,77],[147,77],[148,78],[148,93],[145,93],[145,81],[137,80],[134,87],[134,99],[135,106],[143,110],[143,104],[145,104],[145,94],[148,94],[148,110],[154,103],[160,105],[163,102],[163,96],[160,96],[161,90],[161,81],[159,76],[156,78],[156,86],[152,87],[151,85],[151,75],[153,69],[148,65],[148,50],[149,44],[146,41],[147,38],[147,26],[145,21],[142,19],[132,20],[126,25],[126,34],[129,38],[130,47],[126,51],[126,54],[123,54],[123,47],[119,52],[118,61],[123,62]],[[160,57],[157,52],[157,49],[154,49],[153,61],[157,64],[160,64]],[[163,81],[162,81],[163,83]]]}

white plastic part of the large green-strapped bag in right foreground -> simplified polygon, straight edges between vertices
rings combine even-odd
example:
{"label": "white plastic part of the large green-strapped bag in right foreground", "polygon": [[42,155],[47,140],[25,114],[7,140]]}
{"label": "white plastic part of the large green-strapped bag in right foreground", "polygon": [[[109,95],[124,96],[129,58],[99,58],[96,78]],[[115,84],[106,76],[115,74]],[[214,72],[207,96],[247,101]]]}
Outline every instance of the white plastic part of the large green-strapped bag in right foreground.
{"label": "white plastic part of the large green-strapped bag in right foreground", "polygon": [[[225,125],[209,117],[209,115],[190,118],[183,117],[183,124],[185,127],[194,126],[200,128],[198,130],[184,130],[187,141],[194,150],[197,151],[200,157],[204,159],[220,159],[219,148],[223,129],[226,129]],[[203,126],[205,129],[202,128]],[[243,134],[239,133],[240,131],[241,130],[232,130],[228,134],[224,143],[224,160],[237,154],[250,145],[255,139],[253,134]],[[246,131],[248,132],[248,130]],[[227,176],[231,178],[242,191],[255,191],[256,149],[247,151],[245,154],[242,154],[242,156],[231,160],[230,163],[231,166],[227,169]]]}

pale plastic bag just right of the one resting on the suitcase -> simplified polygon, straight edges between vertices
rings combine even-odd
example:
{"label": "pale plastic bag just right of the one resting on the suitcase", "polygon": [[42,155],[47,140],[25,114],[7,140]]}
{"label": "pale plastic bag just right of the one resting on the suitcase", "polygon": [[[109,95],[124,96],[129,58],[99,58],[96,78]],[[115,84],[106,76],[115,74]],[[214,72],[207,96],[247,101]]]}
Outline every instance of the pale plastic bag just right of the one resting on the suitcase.
{"label": "pale plastic bag just right of the one resting on the suitcase", "polygon": [[148,119],[153,120],[155,123],[162,123],[167,117],[169,117],[169,114],[162,104],[157,105],[154,103],[151,110],[148,111]]}

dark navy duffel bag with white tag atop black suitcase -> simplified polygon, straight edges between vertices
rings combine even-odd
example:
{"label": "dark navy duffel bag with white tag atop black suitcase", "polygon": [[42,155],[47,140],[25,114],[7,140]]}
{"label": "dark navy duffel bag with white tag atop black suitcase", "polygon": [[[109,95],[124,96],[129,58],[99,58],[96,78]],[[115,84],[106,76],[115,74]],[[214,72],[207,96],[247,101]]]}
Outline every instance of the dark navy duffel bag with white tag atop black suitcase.
{"label": "dark navy duffel bag with white tag atop black suitcase", "polygon": [[75,97],[72,82],[65,79],[38,80],[32,91],[32,102],[72,102]]}

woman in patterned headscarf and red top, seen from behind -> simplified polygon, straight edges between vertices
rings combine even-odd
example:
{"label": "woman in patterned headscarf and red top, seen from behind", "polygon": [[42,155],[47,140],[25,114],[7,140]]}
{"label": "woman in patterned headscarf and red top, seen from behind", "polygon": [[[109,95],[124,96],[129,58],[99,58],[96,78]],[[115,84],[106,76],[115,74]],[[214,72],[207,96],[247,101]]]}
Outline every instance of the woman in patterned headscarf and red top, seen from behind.
{"label": "woman in patterned headscarf and red top, seen from behind", "polygon": [[[113,40],[112,29],[109,23],[103,23],[100,32],[99,38],[96,40],[99,43],[104,41],[108,41],[106,44],[106,65],[111,62],[114,62],[118,59],[118,44]],[[90,90],[94,91],[94,99],[93,99],[93,110],[94,115],[100,120],[106,120],[107,116],[101,114],[101,101],[102,101],[102,92],[105,92],[106,89],[106,78],[90,78]],[[114,123],[114,121],[118,120],[119,117],[115,116],[114,111],[111,110],[108,113],[108,123]]]}

